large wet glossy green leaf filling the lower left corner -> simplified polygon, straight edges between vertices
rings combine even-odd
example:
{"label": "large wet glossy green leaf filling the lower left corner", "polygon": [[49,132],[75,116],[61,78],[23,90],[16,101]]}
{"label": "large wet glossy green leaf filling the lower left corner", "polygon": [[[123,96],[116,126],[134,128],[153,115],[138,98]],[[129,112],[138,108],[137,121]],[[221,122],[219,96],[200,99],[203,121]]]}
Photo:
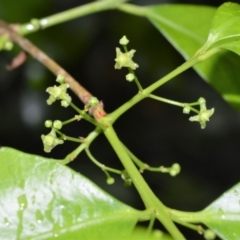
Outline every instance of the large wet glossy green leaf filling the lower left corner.
{"label": "large wet glossy green leaf filling the lower left corner", "polygon": [[1,240],[124,239],[141,217],[50,159],[4,147],[0,169]]}

